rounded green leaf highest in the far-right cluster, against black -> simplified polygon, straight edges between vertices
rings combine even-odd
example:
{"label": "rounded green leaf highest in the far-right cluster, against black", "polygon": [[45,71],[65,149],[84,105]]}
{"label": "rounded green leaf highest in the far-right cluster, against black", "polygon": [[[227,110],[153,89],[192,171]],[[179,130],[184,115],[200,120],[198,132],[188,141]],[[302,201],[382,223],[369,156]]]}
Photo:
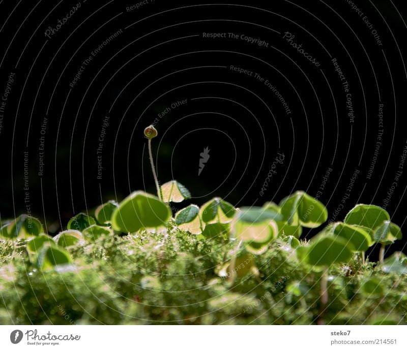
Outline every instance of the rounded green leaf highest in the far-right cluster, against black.
{"label": "rounded green leaf highest in the far-right cluster, against black", "polygon": [[386,220],[390,220],[390,216],[383,208],[371,204],[358,204],[346,214],[344,222],[374,230]]}

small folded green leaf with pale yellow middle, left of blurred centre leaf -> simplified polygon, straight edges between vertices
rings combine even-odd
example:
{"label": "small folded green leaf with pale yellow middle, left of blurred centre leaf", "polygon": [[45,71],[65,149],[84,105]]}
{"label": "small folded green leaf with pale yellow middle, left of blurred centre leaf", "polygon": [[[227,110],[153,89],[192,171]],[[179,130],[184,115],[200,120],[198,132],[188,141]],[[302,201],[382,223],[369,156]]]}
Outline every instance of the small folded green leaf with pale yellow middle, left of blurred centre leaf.
{"label": "small folded green leaf with pale yellow middle, left of blurred centre leaf", "polygon": [[207,224],[213,224],[214,222],[226,224],[232,220],[235,213],[234,206],[219,197],[203,204],[199,210],[202,221]]}

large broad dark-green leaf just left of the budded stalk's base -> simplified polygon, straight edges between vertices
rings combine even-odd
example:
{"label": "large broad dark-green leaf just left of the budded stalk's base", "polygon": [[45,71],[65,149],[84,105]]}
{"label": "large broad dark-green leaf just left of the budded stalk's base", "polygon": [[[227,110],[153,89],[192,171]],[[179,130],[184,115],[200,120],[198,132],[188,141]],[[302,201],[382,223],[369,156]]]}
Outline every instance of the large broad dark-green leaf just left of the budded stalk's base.
{"label": "large broad dark-green leaf just left of the budded stalk's base", "polygon": [[140,229],[165,226],[171,217],[171,209],[157,197],[142,191],[133,192],[111,217],[113,230],[136,232]]}

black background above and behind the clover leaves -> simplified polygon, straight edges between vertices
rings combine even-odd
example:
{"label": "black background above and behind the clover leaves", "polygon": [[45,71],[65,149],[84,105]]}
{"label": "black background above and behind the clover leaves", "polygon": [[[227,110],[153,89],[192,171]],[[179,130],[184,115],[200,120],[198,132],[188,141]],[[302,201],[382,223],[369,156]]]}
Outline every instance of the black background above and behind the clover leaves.
{"label": "black background above and behind the clover leaves", "polygon": [[[355,1],[382,46],[345,0],[229,5],[149,0],[132,11],[126,7],[137,2],[81,0],[76,13],[46,38],[48,26],[55,27],[77,3],[0,2],[1,94],[15,73],[0,132],[2,220],[29,208],[55,233],[74,213],[92,212],[136,189],[154,193],[143,129],[167,106],[185,99],[186,104],[157,119],[153,153],[160,181],[183,183],[191,190],[191,202],[200,205],[220,196],[235,206],[263,205],[303,189],[327,205],[331,220],[342,220],[357,203],[384,205],[407,141],[404,0]],[[93,57],[71,88],[84,59],[119,29],[123,33]],[[290,46],[285,31],[321,66]],[[245,34],[269,45],[203,38],[202,33]],[[350,86],[353,123],[333,57]],[[285,113],[264,83],[231,71],[230,65],[268,79],[292,113]],[[380,103],[384,135],[368,179]],[[98,179],[98,138],[106,116]],[[44,117],[48,123],[42,135]],[[205,147],[210,158],[198,176]],[[277,152],[285,155],[283,164],[261,196]],[[359,174],[347,191],[355,171]],[[387,207],[405,232],[406,181],[407,169]],[[349,197],[335,216],[345,194]],[[390,251],[404,249],[406,238]]]}

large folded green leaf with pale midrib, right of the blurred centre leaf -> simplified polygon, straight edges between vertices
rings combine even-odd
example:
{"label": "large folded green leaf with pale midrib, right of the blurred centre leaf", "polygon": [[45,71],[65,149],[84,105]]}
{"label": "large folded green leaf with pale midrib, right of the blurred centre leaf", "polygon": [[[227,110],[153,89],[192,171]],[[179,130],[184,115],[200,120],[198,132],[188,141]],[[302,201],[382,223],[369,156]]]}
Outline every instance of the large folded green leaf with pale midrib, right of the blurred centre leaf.
{"label": "large folded green leaf with pale midrib, right of the blurred centre leaf", "polygon": [[315,228],[328,219],[327,208],[303,191],[284,198],[279,206],[284,221],[289,225]]}

